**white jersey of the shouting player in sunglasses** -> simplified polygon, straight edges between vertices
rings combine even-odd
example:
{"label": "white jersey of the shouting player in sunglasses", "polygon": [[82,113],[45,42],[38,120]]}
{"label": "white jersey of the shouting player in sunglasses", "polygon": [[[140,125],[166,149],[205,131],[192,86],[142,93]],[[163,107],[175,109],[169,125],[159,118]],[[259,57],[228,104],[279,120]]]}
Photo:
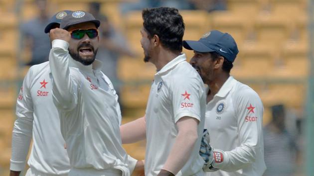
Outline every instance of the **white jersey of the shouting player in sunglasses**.
{"label": "white jersey of the shouting player in sunglasses", "polygon": [[100,61],[84,66],[70,57],[68,46],[64,40],[53,40],[49,61],[53,100],[71,167],[119,169],[129,176],[120,136],[120,107],[112,84],[100,71]]}

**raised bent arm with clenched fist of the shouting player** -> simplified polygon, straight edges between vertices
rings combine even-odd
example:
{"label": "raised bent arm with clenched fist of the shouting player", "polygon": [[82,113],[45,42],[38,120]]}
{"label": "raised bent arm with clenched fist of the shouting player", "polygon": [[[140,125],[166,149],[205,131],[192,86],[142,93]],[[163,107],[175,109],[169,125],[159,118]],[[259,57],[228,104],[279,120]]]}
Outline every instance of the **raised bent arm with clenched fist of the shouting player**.
{"label": "raised bent arm with clenched fist of the shouting player", "polygon": [[55,28],[50,31],[52,49],[49,54],[50,70],[53,78],[52,94],[57,107],[71,110],[77,104],[79,79],[71,75],[68,51],[70,33]]}

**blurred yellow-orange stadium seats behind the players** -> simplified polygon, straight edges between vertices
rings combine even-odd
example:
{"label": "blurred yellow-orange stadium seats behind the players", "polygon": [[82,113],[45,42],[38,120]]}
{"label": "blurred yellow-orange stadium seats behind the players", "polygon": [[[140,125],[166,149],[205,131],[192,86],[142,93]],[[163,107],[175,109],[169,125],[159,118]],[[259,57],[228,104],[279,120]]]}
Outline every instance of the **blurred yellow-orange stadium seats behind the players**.
{"label": "blurred yellow-orange stadium seats behind the players", "polygon": [[[51,14],[62,9],[87,10],[89,1],[92,0],[50,0]],[[141,11],[122,17],[119,0],[97,1],[102,2],[102,11],[124,31],[141,56],[119,60],[125,123],[144,115],[156,68],[143,62]],[[270,120],[268,107],[275,103],[295,109],[302,118],[309,75],[307,0],[227,0],[227,7],[226,11],[211,13],[181,10],[186,25],[184,39],[198,39],[212,29],[230,33],[240,51],[231,74],[261,96],[264,124]],[[35,14],[33,0],[0,0],[0,176],[8,173],[15,100],[28,69],[20,64],[27,51],[19,51],[18,23]],[[189,59],[193,55],[187,50],[183,52]],[[145,142],[125,147],[136,158],[144,158]]]}

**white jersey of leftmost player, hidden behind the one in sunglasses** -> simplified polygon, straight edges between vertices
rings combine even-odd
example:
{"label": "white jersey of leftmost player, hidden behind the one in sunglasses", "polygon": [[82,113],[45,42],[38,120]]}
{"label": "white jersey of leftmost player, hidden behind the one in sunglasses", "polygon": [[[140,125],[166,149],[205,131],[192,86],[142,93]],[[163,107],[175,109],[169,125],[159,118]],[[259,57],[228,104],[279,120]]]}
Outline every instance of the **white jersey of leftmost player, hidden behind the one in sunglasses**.
{"label": "white jersey of leftmost player, hidden behind the one in sunglasses", "polygon": [[24,170],[31,138],[28,165],[32,170],[47,175],[64,175],[70,170],[58,111],[52,101],[49,72],[49,62],[32,66],[18,94],[12,134],[12,171]]}

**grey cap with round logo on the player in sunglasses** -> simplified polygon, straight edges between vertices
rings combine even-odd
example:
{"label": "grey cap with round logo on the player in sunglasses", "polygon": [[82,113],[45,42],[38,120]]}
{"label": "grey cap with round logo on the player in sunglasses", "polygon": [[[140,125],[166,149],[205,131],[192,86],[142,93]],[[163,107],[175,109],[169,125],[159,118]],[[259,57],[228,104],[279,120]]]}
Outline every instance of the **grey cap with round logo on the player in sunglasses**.
{"label": "grey cap with round logo on the player in sunglasses", "polygon": [[66,15],[61,21],[60,28],[67,30],[70,26],[83,22],[92,22],[95,24],[96,28],[100,26],[100,21],[95,19],[91,13],[78,10]]}

